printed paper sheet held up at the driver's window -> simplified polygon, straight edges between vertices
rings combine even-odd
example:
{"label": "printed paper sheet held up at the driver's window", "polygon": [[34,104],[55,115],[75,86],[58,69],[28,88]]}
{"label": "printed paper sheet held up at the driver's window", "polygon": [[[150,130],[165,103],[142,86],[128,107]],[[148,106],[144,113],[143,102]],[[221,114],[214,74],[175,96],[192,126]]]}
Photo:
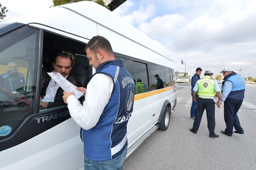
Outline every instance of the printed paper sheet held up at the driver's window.
{"label": "printed paper sheet held up at the driver's window", "polygon": [[70,83],[65,77],[63,77],[60,73],[48,73],[51,78],[67,93],[74,92],[76,95],[76,99],[79,99],[84,95],[79,90],[76,90],[76,86]]}

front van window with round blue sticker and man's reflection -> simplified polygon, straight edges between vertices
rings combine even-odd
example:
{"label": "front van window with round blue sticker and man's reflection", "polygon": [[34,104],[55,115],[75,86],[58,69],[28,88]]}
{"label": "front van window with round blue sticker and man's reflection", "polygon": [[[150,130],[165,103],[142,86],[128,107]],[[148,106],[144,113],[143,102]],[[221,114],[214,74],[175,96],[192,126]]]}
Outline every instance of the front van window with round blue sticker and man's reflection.
{"label": "front van window with round blue sticker and man's reflection", "polygon": [[0,140],[33,114],[39,30],[24,26],[0,38]]}

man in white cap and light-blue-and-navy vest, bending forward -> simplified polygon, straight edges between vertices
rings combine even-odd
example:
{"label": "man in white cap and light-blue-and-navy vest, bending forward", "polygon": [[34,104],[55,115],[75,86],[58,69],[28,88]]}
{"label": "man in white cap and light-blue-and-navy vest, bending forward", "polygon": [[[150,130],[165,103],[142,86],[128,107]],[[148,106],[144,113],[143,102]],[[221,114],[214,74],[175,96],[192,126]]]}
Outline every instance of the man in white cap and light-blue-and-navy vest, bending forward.
{"label": "man in white cap and light-blue-and-navy vest, bending forward", "polygon": [[[224,120],[227,127],[225,131],[222,130],[221,133],[232,136],[234,127],[236,129],[234,133],[244,134],[237,112],[245,96],[245,79],[237,75],[231,67],[225,67],[221,73],[224,75],[224,81],[221,85],[221,104],[225,101]],[[218,108],[220,108],[221,104],[218,105]]]}

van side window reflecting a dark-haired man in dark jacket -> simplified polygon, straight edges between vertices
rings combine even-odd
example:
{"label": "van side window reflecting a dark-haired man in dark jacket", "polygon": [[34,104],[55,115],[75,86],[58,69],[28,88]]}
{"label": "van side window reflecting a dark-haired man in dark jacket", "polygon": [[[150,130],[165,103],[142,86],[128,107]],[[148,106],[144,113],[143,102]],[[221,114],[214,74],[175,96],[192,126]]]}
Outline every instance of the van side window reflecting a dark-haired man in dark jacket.
{"label": "van side window reflecting a dark-haired man in dark jacket", "polygon": [[166,86],[166,80],[165,80],[165,69],[164,66],[150,63],[151,68],[151,75],[152,75],[152,88],[153,90],[156,90],[157,88],[157,80],[155,78],[155,75],[159,75],[159,78],[162,79],[164,87]]}

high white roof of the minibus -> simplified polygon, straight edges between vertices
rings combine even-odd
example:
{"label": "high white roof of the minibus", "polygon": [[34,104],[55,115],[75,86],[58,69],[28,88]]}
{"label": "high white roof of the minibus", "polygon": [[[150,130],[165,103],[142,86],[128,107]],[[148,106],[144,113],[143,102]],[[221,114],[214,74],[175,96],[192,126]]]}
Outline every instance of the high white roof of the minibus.
{"label": "high white roof of the minibus", "polygon": [[[65,17],[62,17],[61,15],[64,14]],[[120,17],[105,7],[90,1],[82,1],[46,8],[43,11],[36,11],[31,14],[25,14],[6,21],[19,22],[24,24],[35,23],[55,29],[60,29],[61,31],[68,32],[73,35],[84,35],[82,32],[85,32],[86,26],[84,26],[82,22],[79,22],[83,21],[85,18],[134,42],[137,42],[138,44],[141,44],[142,46],[147,47],[171,60],[171,54],[160,43],[153,41],[148,36],[140,32],[135,27],[131,26],[126,21],[122,20]],[[72,27],[75,28],[66,29],[65,26],[67,27],[69,21],[71,20],[77,21],[76,24],[72,25]],[[83,38],[91,39],[92,37]]]}

